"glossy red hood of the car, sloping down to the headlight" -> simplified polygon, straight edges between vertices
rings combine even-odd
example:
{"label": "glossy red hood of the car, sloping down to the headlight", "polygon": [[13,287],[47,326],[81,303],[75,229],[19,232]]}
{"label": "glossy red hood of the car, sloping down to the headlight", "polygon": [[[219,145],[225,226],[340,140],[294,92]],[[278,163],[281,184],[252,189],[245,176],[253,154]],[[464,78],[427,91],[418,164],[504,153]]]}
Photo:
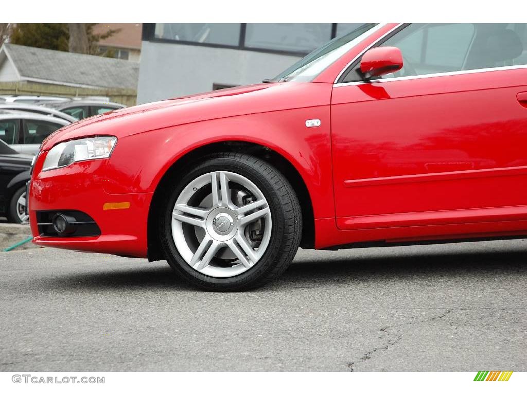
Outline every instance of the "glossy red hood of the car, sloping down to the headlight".
{"label": "glossy red hood of the car, sloping down to the headlight", "polygon": [[207,121],[329,104],[331,84],[310,82],[265,83],[173,98],[121,108],[67,125],[42,143],[42,151],[55,144],[93,135],[128,135]]}

